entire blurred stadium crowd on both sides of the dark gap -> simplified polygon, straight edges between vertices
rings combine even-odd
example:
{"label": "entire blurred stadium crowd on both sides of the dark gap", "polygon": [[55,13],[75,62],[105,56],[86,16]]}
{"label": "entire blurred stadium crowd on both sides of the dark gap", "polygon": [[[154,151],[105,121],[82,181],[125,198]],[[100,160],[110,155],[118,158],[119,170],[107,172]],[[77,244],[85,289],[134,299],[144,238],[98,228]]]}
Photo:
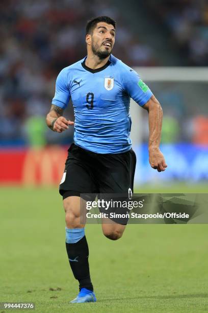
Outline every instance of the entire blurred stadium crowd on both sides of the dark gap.
{"label": "entire blurred stadium crowd on both sides of the dark gap", "polygon": [[[155,1],[148,2],[149,9],[169,27],[179,51],[189,55],[190,65],[207,64],[208,7],[202,8],[200,3],[159,0],[156,5]],[[86,55],[86,21],[98,15],[109,15],[117,21],[113,52],[116,57],[131,66],[158,64],[154,47],[138,41],[113,2],[1,0],[1,146],[72,141],[72,128],[60,136],[46,128],[44,119],[59,71]],[[67,115],[73,119],[72,108],[67,110]]]}

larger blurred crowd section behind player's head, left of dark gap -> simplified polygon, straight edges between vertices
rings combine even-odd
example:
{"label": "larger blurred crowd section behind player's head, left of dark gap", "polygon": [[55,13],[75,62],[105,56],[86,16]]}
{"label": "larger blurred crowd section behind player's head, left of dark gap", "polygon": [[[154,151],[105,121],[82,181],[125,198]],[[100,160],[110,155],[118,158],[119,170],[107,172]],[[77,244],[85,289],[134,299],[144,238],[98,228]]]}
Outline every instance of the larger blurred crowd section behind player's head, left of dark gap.
{"label": "larger blurred crowd section behind player's head, left of dark gap", "polygon": [[[119,8],[110,1],[1,0],[0,120],[4,127],[0,145],[42,145],[58,139],[67,143],[65,135],[41,139],[42,120],[37,116],[49,110],[58,73],[85,57],[85,26],[98,15],[110,15],[117,21],[116,57],[130,66],[154,62],[152,49],[133,40]],[[72,107],[66,115],[73,119]],[[71,142],[71,131],[67,135]]]}

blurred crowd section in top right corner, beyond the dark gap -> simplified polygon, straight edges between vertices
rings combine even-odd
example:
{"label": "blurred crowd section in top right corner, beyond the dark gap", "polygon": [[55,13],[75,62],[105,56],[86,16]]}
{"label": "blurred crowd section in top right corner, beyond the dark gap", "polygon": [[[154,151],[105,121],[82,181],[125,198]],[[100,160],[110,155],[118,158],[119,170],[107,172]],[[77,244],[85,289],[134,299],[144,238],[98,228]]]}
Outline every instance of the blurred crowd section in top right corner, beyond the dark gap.
{"label": "blurred crowd section in top right corner, beyond the dark gap", "polygon": [[208,3],[206,0],[148,0],[146,5],[176,41],[187,65],[208,65]]}

